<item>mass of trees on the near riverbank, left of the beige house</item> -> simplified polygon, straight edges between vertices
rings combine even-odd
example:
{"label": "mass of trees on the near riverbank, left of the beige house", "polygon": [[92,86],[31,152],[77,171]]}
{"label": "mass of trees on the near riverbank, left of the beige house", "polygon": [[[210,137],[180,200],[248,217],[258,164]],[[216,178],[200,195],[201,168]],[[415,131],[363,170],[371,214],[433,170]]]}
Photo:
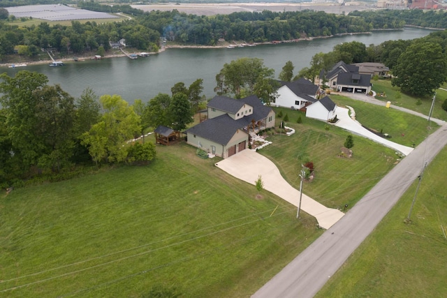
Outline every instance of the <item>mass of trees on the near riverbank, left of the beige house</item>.
{"label": "mass of trees on the near riverbank, left of the beige house", "polygon": [[147,129],[183,131],[203,100],[201,79],[133,105],[118,95],[98,97],[89,88],[73,98],[40,73],[3,73],[0,79],[2,188],[32,177],[66,179],[85,165],[148,163],[156,151],[154,142],[145,142]]}

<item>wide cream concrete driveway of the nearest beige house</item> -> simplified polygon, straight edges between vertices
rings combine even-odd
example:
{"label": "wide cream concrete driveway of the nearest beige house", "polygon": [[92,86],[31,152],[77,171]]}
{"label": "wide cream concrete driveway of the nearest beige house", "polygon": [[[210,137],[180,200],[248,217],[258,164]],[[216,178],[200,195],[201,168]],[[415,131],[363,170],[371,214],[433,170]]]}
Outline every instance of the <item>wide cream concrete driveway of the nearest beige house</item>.
{"label": "wide cream concrete driveway of the nearest beige house", "polygon": [[[298,207],[300,191],[288,184],[281,176],[277,166],[265,156],[245,149],[223,161],[219,161],[219,163],[216,163],[216,166],[228,174],[253,185],[256,185],[256,180],[261,175],[265,190]],[[342,211],[325,207],[304,193],[302,194],[301,209],[307,214],[314,216],[318,221],[318,225],[324,229],[332,227],[344,216]]]}

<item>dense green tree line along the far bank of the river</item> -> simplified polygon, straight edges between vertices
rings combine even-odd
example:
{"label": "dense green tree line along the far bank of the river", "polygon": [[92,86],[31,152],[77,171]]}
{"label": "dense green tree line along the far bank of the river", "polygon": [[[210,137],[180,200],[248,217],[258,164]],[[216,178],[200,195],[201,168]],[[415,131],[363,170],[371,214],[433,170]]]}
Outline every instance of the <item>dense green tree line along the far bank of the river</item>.
{"label": "dense green tree line along the far bank of the river", "polygon": [[[108,13],[129,13],[134,18],[105,24],[73,21],[71,26],[50,26],[42,22],[30,27],[18,27],[0,22],[0,56],[18,52],[35,57],[41,49],[56,50],[62,54],[86,51],[103,53],[110,50],[110,41],[116,42],[121,38],[126,39],[129,47],[156,52],[161,37],[181,44],[216,45],[221,39],[228,42],[244,40],[247,43],[262,43],[365,32],[385,27],[396,29],[402,28],[404,24],[447,27],[444,12],[421,13],[420,10],[380,10],[353,12],[349,15],[312,10],[284,13],[264,10],[206,17],[187,15],[177,10],[145,13],[129,5],[107,6],[91,1],[78,5]],[[423,23],[416,20],[423,20]]]}

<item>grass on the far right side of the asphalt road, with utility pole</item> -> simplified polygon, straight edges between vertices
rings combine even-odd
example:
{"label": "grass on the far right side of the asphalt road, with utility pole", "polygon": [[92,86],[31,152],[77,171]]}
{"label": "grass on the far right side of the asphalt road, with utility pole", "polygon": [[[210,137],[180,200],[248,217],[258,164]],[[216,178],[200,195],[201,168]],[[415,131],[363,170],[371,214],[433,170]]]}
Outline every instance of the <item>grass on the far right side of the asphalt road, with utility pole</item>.
{"label": "grass on the far right side of the asphalt road, with utility pole", "polygon": [[316,297],[446,297],[447,148]]}

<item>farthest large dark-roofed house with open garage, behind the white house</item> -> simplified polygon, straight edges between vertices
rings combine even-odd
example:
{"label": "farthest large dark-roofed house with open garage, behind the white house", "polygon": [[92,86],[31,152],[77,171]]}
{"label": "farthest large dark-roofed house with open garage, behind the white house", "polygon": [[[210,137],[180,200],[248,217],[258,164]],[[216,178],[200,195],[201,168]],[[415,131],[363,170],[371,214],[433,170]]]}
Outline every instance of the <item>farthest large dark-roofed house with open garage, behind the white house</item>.
{"label": "farthest large dark-roofed house with open garage, behind the white house", "polygon": [[337,92],[351,92],[368,94],[371,91],[371,75],[359,73],[359,67],[345,64],[339,61],[327,73],[322,70],[320,74],[321,84],[323,77],[328,87]]}

